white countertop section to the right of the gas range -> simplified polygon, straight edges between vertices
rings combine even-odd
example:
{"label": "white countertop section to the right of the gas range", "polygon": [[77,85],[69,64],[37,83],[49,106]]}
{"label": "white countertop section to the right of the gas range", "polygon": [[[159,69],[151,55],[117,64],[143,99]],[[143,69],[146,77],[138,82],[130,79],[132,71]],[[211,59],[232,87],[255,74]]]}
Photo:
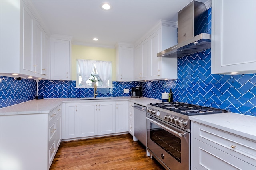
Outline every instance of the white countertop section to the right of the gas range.
{"label": "white countertop section to the right of the gas range", "polygon": [[191,116],[190,120],[256,141],[255,116],[238,113],[219,113]]}

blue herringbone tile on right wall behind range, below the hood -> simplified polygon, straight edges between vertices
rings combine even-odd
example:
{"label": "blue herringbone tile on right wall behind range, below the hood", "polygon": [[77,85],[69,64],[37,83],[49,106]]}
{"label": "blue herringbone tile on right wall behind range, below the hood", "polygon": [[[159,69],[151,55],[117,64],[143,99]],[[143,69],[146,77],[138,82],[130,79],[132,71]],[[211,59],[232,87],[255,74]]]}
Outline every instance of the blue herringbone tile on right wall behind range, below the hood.
{"label": "blue herringbone tile on right wall behind range, below the hood", "polygon": [[256,74],[211,74],[210,49],[178,59],[176,81],[143,82],[145,97],[161,99],[172,88],[176,102],[256,116]]}

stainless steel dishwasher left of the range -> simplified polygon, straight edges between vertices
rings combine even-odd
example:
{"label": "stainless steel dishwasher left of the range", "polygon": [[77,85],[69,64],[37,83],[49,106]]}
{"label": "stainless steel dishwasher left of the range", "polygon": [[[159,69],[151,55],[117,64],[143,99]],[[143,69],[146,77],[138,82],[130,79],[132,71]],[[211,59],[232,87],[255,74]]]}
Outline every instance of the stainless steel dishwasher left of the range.
{"label": "stainless steel dishwasher left of the range", "polygon": [[147,146],[147,113],[146,107],[138,104],[134,108],[134,136],[145,146]]}

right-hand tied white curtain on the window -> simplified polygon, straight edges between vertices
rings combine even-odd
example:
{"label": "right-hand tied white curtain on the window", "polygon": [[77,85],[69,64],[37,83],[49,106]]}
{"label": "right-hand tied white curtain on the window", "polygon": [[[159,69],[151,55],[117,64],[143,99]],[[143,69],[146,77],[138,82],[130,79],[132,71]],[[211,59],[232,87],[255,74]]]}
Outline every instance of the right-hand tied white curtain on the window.
{"label": "right-hand tied white curtain on the window", "polygon": [[95,61],[96,70],[98,75],[102,80],[102,86],[108,88],[108,80],[110,79],[110,74],[112,71],[112,62],[111,61]]}

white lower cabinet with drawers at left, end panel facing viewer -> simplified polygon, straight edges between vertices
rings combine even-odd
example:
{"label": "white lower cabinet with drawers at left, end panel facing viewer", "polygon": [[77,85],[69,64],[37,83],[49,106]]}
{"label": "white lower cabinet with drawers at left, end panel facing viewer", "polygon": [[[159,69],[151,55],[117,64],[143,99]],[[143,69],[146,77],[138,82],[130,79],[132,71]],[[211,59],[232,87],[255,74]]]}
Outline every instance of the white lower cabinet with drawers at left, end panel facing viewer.
{"label": "white lower cabinet with drawers at left, end panel facing viewer", "polygon": [[48,170],[60,145],[61,105],[50,113],[0,117],[0,169]]}

